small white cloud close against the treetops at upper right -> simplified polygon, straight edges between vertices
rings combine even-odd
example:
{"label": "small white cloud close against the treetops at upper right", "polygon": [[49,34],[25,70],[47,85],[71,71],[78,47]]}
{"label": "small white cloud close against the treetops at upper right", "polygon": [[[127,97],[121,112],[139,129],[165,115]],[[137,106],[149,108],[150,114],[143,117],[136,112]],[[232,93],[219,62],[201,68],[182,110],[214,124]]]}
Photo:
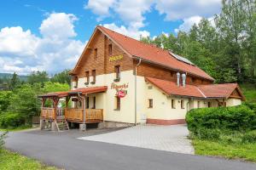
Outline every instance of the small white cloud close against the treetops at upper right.
{"label": "small white cloud close against the treetops at upper right", "polygon": [[189,18],[186,18],[183,20],[183,24],[178,26],[177,29],[174,31],[177,33],[178,31],[185,31],[188,32],[190,28],[195,24],[198,25],[201,21],[202,17],[201,16],[191,16]]}

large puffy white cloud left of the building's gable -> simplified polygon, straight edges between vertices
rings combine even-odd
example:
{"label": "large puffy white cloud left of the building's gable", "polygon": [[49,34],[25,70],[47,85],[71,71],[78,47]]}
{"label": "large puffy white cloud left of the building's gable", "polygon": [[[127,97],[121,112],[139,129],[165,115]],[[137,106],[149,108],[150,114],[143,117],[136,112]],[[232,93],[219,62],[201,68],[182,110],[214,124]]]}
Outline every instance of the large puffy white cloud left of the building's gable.
{"label": "large puffy white cloud left of the building's gable", "polygon": [[40,26],[42,37],[20,26],[5,27],[0,31],[0,72],[49,71],[55,73],[73,68],[84,43],[74,40],[77,34],[73,14],[49,14]]}

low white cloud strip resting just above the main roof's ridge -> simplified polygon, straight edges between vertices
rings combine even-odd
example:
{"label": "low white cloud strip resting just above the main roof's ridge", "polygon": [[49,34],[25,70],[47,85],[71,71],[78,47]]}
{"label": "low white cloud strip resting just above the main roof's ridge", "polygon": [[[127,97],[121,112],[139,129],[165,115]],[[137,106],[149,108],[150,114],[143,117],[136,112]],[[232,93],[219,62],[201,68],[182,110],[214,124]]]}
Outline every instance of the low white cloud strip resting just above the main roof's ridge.
{"label": "low white cloud strip resting just above the main roof's ridge", "polygon": [[142,37],[149,37],[150,33],[148,31],[138,31],[137,29],[128,27],[126,28],[125,26],[116,26],[114,23],[112,24],[104,24],[108,29],[111,29],[113,31],[117,31],[121,34],[124,34],[125,36],[128,37],[133,37],[135,39],[139,39],[140,36]]}

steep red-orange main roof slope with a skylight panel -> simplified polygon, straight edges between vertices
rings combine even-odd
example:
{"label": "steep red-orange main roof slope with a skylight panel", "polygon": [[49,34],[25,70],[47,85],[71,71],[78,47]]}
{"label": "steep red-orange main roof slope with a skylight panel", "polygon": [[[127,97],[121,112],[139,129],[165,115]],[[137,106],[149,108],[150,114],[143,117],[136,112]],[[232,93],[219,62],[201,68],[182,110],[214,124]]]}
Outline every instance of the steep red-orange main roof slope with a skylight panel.
{"label": "steep red-orange main roof slope with a skylight panel", "polygon": [[108,37],[110,37],[113,42],[118,43],[121,48],[125,49],[125,51],[131,54],[133,57],[142,58],[158,65],[164,65],[168,68],[172,68],[173,70],[185,71],[189,74],[195,75],[197,77],[203,77],[211,81],[214,80],[199,67],[195,65],[189,65],[180,60],[177,60],[175,57],[169,54],[169,51],[165,49],[145,44],[131,37],[126,37],[103,26],[97,26],[97,28],[108,35]]}

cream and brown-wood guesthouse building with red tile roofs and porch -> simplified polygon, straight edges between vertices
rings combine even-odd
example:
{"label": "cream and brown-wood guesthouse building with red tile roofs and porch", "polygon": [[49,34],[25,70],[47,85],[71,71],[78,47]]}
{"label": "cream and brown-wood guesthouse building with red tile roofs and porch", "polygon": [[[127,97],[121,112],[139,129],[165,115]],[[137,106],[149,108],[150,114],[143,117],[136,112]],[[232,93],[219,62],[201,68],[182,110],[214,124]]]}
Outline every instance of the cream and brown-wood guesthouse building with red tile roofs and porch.
{"label": "cream and brown-wood guesthouse building with red tile roofs and porch", "polygon": [[[96,26],[70,74],[70,91],[40,96],[43,106],[46,99],[54,101],[53,120],[60,98],[73,101],[73,108],[65,109],[67,122],[107,127],[184,123],[191,109],[240,105],[245,99],[236,83],[213,84],[188,59],[103,26]],[[44,116],[48,109],[43,107]]]}

